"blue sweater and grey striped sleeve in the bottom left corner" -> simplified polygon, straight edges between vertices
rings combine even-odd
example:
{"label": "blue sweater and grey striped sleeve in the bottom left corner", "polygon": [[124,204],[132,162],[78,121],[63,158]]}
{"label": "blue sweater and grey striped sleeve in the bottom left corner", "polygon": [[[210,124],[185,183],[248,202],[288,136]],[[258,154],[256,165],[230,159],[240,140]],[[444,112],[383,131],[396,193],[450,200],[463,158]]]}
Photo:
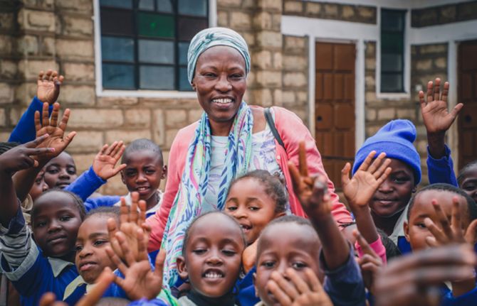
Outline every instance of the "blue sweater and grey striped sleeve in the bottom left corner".
{"label": "blue sweater and grey striped sleeve in the bottom left corner", "polygon": [[[19,207],[9,228],[0,226],[0,267],[21,295],[21,305],[38,305],[44,293],[52,292],[62,298],[65,288],[78,277],[73,263],[43,256],[33,241]],[[80,286],[65,300],[75,305],[85,294]]]}

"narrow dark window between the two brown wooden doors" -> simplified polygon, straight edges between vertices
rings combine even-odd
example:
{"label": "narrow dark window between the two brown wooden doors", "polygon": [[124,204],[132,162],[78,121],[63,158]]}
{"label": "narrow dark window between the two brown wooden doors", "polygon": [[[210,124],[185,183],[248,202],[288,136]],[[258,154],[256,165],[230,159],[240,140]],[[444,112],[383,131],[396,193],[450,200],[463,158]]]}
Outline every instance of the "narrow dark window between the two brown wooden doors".
{"label": "narrow dark window between the two brown wooden doors", "polygon": [[405,14],[381,10],[381,92],[404,92]]}

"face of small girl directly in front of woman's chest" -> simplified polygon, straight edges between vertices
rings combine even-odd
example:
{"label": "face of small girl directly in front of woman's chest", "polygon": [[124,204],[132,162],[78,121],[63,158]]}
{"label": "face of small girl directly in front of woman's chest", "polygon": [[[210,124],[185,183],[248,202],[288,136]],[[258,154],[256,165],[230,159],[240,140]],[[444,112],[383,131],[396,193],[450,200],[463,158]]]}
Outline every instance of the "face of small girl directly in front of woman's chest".
{"label": "face of small girl directly in front of woman's chest", "polygon": [[225,212],[239,222],[247,244],[253,244],[269,222],[284,214],[276,212],[276,201],[252,177],[243,178],[232,185],[225,202]]}

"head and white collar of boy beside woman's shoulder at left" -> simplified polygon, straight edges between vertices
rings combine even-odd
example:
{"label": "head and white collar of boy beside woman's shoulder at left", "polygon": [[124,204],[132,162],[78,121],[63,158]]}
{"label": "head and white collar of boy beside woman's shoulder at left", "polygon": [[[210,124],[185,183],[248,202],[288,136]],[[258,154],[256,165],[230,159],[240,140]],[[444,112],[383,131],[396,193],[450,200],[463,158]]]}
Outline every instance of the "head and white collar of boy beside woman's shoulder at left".
{"label": "head and white collar of boy beside woman's shoulder at left", "polygon": [[[138,192],[140,200],[146,201],[147,217],[155,214],[162,202],[159,185],[167,175],[161,148],[149,139],[136,139],[127,146],[121,163],[125,164],[121,179],[130,192],[125,197],[126,204],[131,204],[131,192]],[[120,202],[116,205],[119,206]]]}

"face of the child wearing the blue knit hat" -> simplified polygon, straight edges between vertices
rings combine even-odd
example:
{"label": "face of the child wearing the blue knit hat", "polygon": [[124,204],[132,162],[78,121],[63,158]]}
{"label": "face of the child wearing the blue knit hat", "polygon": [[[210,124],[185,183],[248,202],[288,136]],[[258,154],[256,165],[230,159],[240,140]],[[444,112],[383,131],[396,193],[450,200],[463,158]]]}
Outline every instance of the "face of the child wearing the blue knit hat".
{"label": "face of the child wearing the blue knit hat", "polygon": [[405,163],[391,158],[392,172],[374,192],[369,207],[379,217],[390,217],[402,211],[414,190],[414,173]]}

